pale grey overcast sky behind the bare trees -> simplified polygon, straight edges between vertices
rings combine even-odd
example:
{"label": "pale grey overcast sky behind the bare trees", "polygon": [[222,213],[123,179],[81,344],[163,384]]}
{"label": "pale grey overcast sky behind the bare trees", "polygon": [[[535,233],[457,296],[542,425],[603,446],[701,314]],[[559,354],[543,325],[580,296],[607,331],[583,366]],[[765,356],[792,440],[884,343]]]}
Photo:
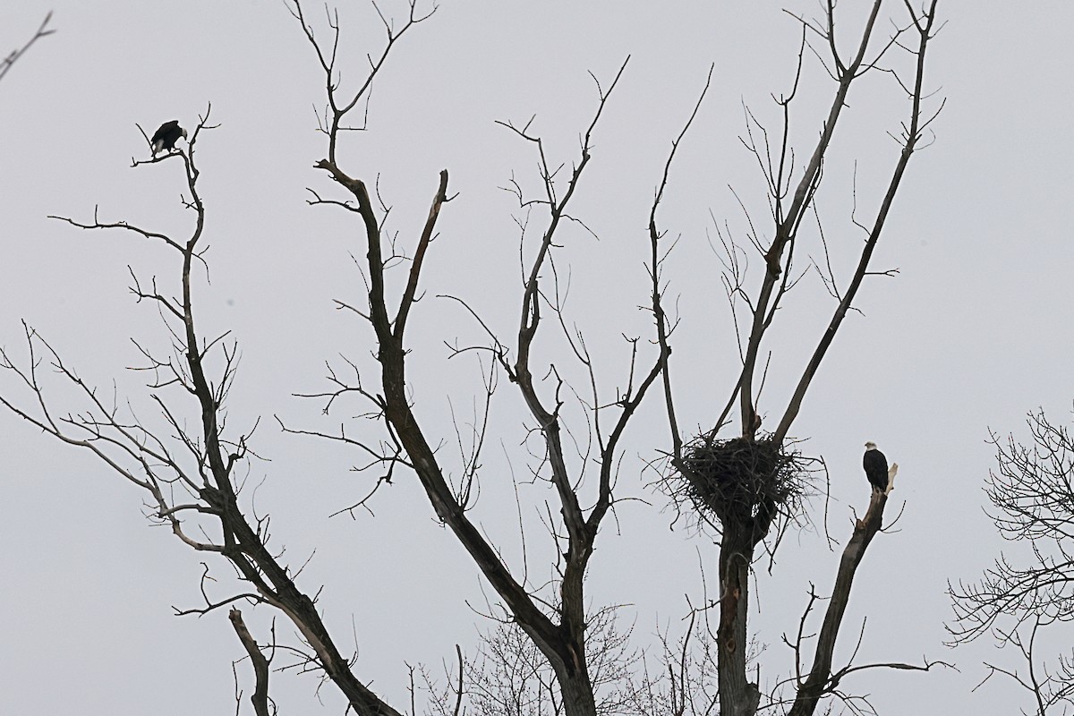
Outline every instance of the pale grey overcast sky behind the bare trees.
{"label": "pale grey overcast sky behind the bare trees", "polygon": [[[379,174],[394,207],[390,227],[405,244],[420,230],[439,170],[449,170],[449,190],[460,192],[441,215],[441,237],[424,275],[427,294],[411,326],[415,399],[432,435],[452,437],[448,397],[465,413],[480,391],[475,365],[446,363],[444,347],[445,340],[477,339],[475,325],[435,295],[466,296],[505,337],[517,323],[513,200],[497,187],[512,173],[533,186],[535,161],[532,147],[494,120],[524,123],[536,114],[534,131],[546,137],[554,161],[569,162],[595,107],[587,71],[608,83],[628,54],[575,207],[600,240],[574,230],[558,254],[561,265],[572,265],[568,310],[607,366],[603,390],[613,396],[626,357],[620,334],[651,336],[637,306],[648,301],[642,262],[653,188],[714,62],[712,90],[681,147],[661,218],[682,237],[666,273],[682,317],[672,365],[680,420],[688,429],[715,417],[737,366],[720,262],[706,232],[711,213],[742,238],[744,220],[728,186],[764,223],[764,187],[738,136],[743,102],[777,127],[770,93],[789,87],[798,38],[781,6],[444,0],[433,19],[401,41],[374,90],[371,131],[348,135],[340,161],[366,180]],[[804,0],[786,6],[816,9]],[[404,10],[388,0],[382,8]],[[364,494],[365,478],[348,471],[359,457],[281,435],[272,419],[331,429],[360,412],[348,406],[325,420],[319,405],[291,394],[323,389],[325,360],[369,350],[365,327],[332,305],[333,298],[361,298],[349,259],[362,251],[355,225],[340,211],[305,202],[306,187],[339,193],[313,169],[325,148],[315,131],[313,107],[323,104],[323,86],[311,48],[285,6],[270,0],[20,0],[0,6],[0,52],[25,42],[50,9],[56,34],[0,83],[0,344],[17,352],[26,319],[87,381],[110,393],[115,379],[121,396],[154,414],[140,377],[124,368],[139,363],[131,336],[160,348],[166,335],[154,310],[134,305],[127,266],[173,284],[174,258],[134,236],[79,232],[46,216],[88,221],[99,206],[102,221],[185,231],[178,162],[130,167],[132,157],[147,156],[135,123],[153,131],[177,118],[192,129],[212,102],[221,127],[198,145],[213,279],[200,289],[200,317],[205,334],[231,330],[241,344],[232,424],[263,415],[253,447],[266,462],[249,470],[250,484],[262,483],[257,506],[272,514],[272,544],[286,546],[290,564],[316,550],[301,586],[314,593],[325,585],[320,607],[337,643],[350,648],[351,633],[358,635],[357,673],[405,707],[404,662],[439,673],[455,643],[471,652],[478,628],[489,625],[467,607],[484,604],[477,570],[435,523],[413,479],[396,480],[378,496],[376,517],[330,520]],[[323,17],[316,3],[309,12]],[[984,675],[983,660],[1021,664],[987,640],[956,651],[943,646],[950,617],[944,589],[948,580],[977,579],[1003,546],[983,512],[992,465],[988,428],[1026,437],[1027,411],[1043,407],[1066,421],[1074,398],[1068,216],[1074,5],[941,0],[940,12],[948,24],[930,49],[927,72],[947,106],[934,125],[934,144],[911,163],[875,255],[876,268],[900,274],[867,281],[857,303],[863,317],[845,322],[792,433],[809,439],[806,452],[827,461],[829,527],[841,542],[851,532],[852,507],[860,512],[868,501],[861,444],[877,441],[901,465],[888,513],[903,502],[905,511],[896,531],[876,538],[859,570],[837,660],[848,655],[868,616],[859,661],[916,662],[926,655],[960,669],[867,671],[845,688],[870,695],[882,713],[1012,713],[1028,705],[1012,683],[971,689]],[[361,75],[362,54],[378,53],[382,38],[365,3],[347,3],[342,18],[353,68],[346,84]],[[804,155],[831,93],[815,61],[801,92],[793,121]],[[865,210],[895,161],[886,132],[897,131],[904,116],[902,93],[881,75],[854,92],[819,196],[844,280],[859,245],[848,223],[854,161]],[[754,258],[754,281],[758,266]],[[787,306],[760,403],[773,421],[832,303],[811,276]],[[537,361],[565,362],[562,352],[550,352],[557,348],[547,327],[550,338]],[[518,566],[505,456],[517,473],[524,473],[525,459],[511,389],[502,381],[471,514]],[[14,390],[10,376],[0,376],[0,390]],[[644,486],[652,472],[640,473],[643,461],[668,444],[662,417],[661,403],[651,400],[624,443],[619,494],[651,506],[622,506],[619,530],[606,523],[590,579],[595,605],[628,605],[622,618],[634,624],[639,647],[652,646],[658,628],[680,626],[685,594],[700,599],[699,559],[710,588],[714,583],[711,542],[681,523],[669,529],[667,499]],[[166,530],[147,528],[136,489],[88,454],[6,413],[0,414],[0,711],[233,713],[231,661],[243,652],[227,610],[172,616],[172,605],[200,603],[200,556]],[[540,582],[548,574],[547,562],[534,556],[548,551],[537,521],[542,493],[523,487],[520,495],[533,530],[531,571]],[[819,509],[818,502],[815,517]],[[767,644],[763,681],[786,674],[780,634],[796,628],[811,581],[830,591],[838,562],[838,552],[828,552],[813,531],[788,538],[781,550],[774,575],[761,571],[755,591],[760,614],[751,627]],[[223,596],[229,570],[214,569],[221,580],[216,596]],[[264,639],[273,615],[244,612]],[[281,639],[289,638],[290,627],[277,625]],[[248,664],[240,670],[246,684]],[[273,696],[282,714],[342,711],[331,687],[322,689],[319,708],[316,688],[314,676],[278,674]]]}

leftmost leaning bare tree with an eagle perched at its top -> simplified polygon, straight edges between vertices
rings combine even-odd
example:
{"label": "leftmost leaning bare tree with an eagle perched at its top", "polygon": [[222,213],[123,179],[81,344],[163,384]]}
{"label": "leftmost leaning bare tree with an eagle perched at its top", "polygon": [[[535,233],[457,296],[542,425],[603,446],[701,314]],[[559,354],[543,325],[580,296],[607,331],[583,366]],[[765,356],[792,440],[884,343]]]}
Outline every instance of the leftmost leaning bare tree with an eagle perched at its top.
{"label": "leftmost leaning bare tree with an eagle perched at its top", "polygon": [[[103,398],[29,326],[26,326],[26,359],[19,361],[0,351],[0,368],[17,377],[30,399],[20,403],[5,394],[0,395],[0,405],[60,441],[96,455],[143,491],[151,521],[170,527],[191,549],[227,560],[247,585],[246,590],[222,598],[207,596],[203,585],[205,604],[180,614],[206,614],[240,601],[278,610],[301,634],[300,643],[286,647],[299,663],[323,671],[355,713],[398,716],[400,712],[353,673],[350,658],[329,634],[316,598],[299,587],[295,570],[268,549],[267,517],[249,516],[249,505],[244,507],[241,500],[235,468],[249,456],[248,440],[253,428],[235,433],[226,425],[228,392],[235,377],[236,345],[228,334],[206,339],[195,320],[195,289],[205,280],[206,266],[203,259],[206,215],[198,185],[201,172],[195,154],[203,133],[215,129],[208,118],[206,111],[190,135],[187,150],[133,162],[133,167],[140,171],[163,162],[182,164],[184,206],[193,218],[189,235],[173,237],[127,221],[102,222],[96,215],[89,222],[52,217],[86,231],[118,231],[140,240],[162,243],[177,260],[177,280],[171,289],[161,288],[156,276],[146,281],[131,272],[131,292],[140,303],[156,308],[173,341],[171,355],[161,355],[139,344],[146,361],[141,369],[153,377],[148,383],[149,396],[164,427],[155,430],[149,421],[125,414],[119,407],[121,401]],[[50,406],[45,398],[42,366],[58,374],[68,389],[74,391],[81,400],[77,409],[57,411]],[[208,572],[206,567],[206,578]],[[238,610],[232,609],[231,620],[253,664],[255,708],[259,714],[271,713],[267,657],[262,654],[267,646],[257,643]]]}

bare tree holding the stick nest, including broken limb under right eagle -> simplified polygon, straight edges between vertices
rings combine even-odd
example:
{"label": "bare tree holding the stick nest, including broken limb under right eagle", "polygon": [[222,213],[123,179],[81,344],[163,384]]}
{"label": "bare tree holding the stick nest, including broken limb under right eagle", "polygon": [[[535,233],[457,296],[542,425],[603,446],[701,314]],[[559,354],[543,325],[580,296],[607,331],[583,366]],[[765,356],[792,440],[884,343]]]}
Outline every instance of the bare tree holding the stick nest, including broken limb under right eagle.
{"label": "bare tree holding the stick nest, including broken limb under right eagle", "polygon": [[[795,83],[788,94],[777,100],[782,114],[780,138],[774,144],[770,143],[769,132],[753,113],[748,112],[748,134],[743,143],[755,156],[765,177],[771,238],[766,240],[751,220],[750,240],[763,260],[764,267],[759,284],[751,290],[739,260],[739,247],[732,239],[722,237],[728,253],[725,262],[728,267],[724,276],[725,288],[731,309],[736,312],[736,325],[739,325],[738,307],[742,304],[746,306],[745,318],[741,321],[745,330],[744,335],[739,337],[741,368],[726,407],[711,423],[711,428],[691,439],[682,437],[673,400],[671,366],[666,364],[664,367],[664,394],[671,433],[669,452],[673,470],[669,484],[676,495],[684,498],[684,501],[698,511],[701,520],[713,524],[720,531],[717,638],[720,708],[724,716],[750,716],[757,711],[760,702],[758,684],[746,677],[751,565],[757,546],[764,540],[773,539],[778,543],[786,525],[801,515],[802,499],[809,487],[809,463],[788,442],[790,427],[843,319],[854,309],[854,299],[862,281],[868,276],[888,273],[871,271],[870,261],[910,159],[935,117],[935,113],[926,113],[923,101],[928,93],[925,85],[925,60],[929,42],[937,30],[937,2],[926,2],[920,9],[911,2],[901,4],[905,14],[894,21],[892,33],[883,40],[876,40],[874,30],[884,3],[875,0],[850,54],[844,54],[841,49],[841,35],[837,38],[834,2],[823,3],[825,11],[819,21],[798,18],[802,27],[802,44],[798,54]],[[797,166],[794,160],[796,155],[788,138],[790,108],[799,91],[798,83],[807,48],[821,58],[824,69],[834,82],[834,92],[809,160],[803,166]],[[897,52],[906,53],[911,57],[909,72],[887,67],[890,56]],[[830,262],[826,262],[827,268],[817,268],[826,288],[836,299],[836,307],[826,330],[812,351],[807,353],[806,366],[796,389],[785,403],[768,411],[769,414],[778,415],[774,428],[763,434],[758,395],[764,380],[758,378],[758,370],[761,368],[763,350],[768,345],[766,338],[775,321],[781,302],[801,278],[796,274],[794,263],[796,257],[804,252],[799,247],[800,235],[808,223],[808,217],[815,210],[814,202],[821,187],[825,159],[832,151],[836,130],[843,109],[847,106],[851,88],[862,75],[882,69],[891,73],[910,100],[908,116],[898,137],[901,151],[871,220],[861,221],[856,216],[853,218],[854,224],[865,237],[853,275],[840,283],[830,268]],[[670,169],[678,144],[676,142],[672,145],[667,170]],[[670,363],[671,337],[676,323],[665,312],[665,284],[662,279],[662,267],[669,249],[665,248],[664,232],[658,229],[656,220],[667,186],[667,170],[652,205],[649,232],[652,249],[652,308],[658,342],[664,349],[663,355]],[[721,438],[720,433],[729,424],[736,405],[738,436]],[[832,670],[836,637],[855,570],[881,526],[886,499],[886,495],[874,493],[866,518],[857,523],[844,550],[812,666],[800,670],[793,685],[797,696],[790,713],[795,716],[814,713],[823,697],[837,692],[840,678],[848,671]],[[918,668],[927,667],[928,664]]]}

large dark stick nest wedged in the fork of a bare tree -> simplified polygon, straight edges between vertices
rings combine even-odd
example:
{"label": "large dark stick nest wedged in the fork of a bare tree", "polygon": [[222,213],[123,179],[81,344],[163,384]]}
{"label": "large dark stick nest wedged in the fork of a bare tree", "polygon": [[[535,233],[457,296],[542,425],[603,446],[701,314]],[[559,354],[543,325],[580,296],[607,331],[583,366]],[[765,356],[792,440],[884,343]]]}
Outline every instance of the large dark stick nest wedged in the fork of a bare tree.
{"label": "large dark stick nest wedged in the fork of a bare tree", "polygon": [[683,451],[669,487],[676,497],[688,498],[702,518],[715,517],[725,536],[752,546],[778,516],[793,521],[801,514],[812,462],[770,437],[699,437]]}

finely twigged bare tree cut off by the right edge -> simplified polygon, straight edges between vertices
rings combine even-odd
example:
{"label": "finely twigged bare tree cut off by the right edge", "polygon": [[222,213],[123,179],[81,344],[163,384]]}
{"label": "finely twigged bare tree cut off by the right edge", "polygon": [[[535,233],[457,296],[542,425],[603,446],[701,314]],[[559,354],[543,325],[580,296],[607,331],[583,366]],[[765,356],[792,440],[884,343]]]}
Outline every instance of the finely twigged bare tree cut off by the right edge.
{"label": "finely twigged bare tree cut off by the right edge", "polygon": [[1074,620],[1074,437],[1043,410],[1027,419],[1031,443],[992,433],[997,469],[989,473],[989,516],[1004,539],[1025,547],[1001,554],[979,582],[948,585],[955,620],[952,643],[991,635],[1017,652],[1024,670],[986,663],[988,681],[1008,676],[1028,690],[1034,707],[1049,716],[1074,708],[1074,651],[1048,667],[1040,643],[1051,635],[1071,641]]}

